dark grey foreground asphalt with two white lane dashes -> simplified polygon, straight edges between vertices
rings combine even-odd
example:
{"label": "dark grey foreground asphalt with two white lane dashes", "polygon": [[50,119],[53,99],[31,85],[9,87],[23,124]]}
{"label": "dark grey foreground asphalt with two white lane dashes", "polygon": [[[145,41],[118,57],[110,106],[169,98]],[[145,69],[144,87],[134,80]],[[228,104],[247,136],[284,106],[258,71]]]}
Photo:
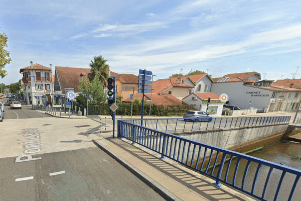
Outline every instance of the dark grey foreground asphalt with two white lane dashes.
{"label": "dark grey foreground asphalt with two white lane dashes", "polygon": [[97,147],[38,157],[0,159],[0,200],[164,200]]}

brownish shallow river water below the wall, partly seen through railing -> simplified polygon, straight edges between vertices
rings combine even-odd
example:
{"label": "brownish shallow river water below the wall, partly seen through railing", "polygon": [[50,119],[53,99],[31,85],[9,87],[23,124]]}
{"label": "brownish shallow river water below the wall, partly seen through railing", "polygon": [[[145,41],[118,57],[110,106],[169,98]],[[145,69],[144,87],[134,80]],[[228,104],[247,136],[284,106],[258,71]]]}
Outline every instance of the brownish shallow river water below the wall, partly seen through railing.
{"label": "brownish shallow river water below the wall, partly seen through railing", "polygon": [[[286,142],[286,143],[274,143],[270,146],[266,146],[263,149],[260,149],[256,152],[248,154],[250,156],[254,156],[256,158],[261,158],[264,160],[268,160],[274,163],[282,164],[288,167],[292,167],[298,170],[301,170],[301,143],[295,142]],[[236,161],[233,161],[233,164],[236,164]],[[246,161],[241,160],[240,163],[242,166],[246,164]],[[232,165],[232,163],[231,163]],[[245,189],[250,190],[252,187],[252,182],[254,179],[254,175],[256,172],[257,165],[250,164],[248,175],[245,181]],[[235,165],[230,168],[229,175],[233,173],[235,169]],[[274,169],[275,170],[275,169]],[[277,187],[279,178],[281,176],[280,171],[274,171],[271,174],[270,181],[267,186],[267,190],[264,198],[267,200],[273,200],[275,194],[275,186]],[[266,175],[269,171],[269,168],[262,167],[260,169],[261,175],[259,174],[255,194],[258,196],[262,195],[262,190],[264,188],[264,181]],[[241,180],[243,177],[243,172],[238,172],[238,176],[235,179],[236,183],[241,185]],[[231,180],[232,178],[229,178]],[[277,200],[287,200],[291,186],[294,182],[295,176],[290,173],[287,173],[283,179]],[[228,180],[228,179],[227,179]],[[271,190],[273,189],[273,190]],[[298,184],[295,188],[292,200],[301,200],[301,179],[299,179]]]}

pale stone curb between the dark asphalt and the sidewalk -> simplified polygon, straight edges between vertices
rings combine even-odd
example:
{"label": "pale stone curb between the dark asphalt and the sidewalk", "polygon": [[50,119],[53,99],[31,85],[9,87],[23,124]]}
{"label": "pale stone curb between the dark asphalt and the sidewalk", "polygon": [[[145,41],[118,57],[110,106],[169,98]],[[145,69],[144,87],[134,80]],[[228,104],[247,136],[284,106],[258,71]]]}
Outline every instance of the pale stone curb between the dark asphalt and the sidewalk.
{"label": "pale stone curb between the dark asphalt and the sidewalk", "polygon": [[[103,139],[105,140],[105,139]],[[143,172],[141,172],[139,169],[128,163],[126,160],[124,160],[122,157],[118,156],[114,152],[107,149],[105,146],[101,145],[100,143],[96,142],[96,140],[92,140],[93,143],[106,152],[109,156],[114,158],[118,163],[120,163],[123,167],[125,167],[127,170],[129,170],[131,173],[133,173],[137,178],[139,178],[141,181],[146,183],[150,188],[153,188],[156,192],[158,192],[163,198],[166,200],[182,200],[175,194],[173,194],[171,191],[167,190],[165,187],[163,187],[161,184],[156,182],[154,179],[150,178]]]}

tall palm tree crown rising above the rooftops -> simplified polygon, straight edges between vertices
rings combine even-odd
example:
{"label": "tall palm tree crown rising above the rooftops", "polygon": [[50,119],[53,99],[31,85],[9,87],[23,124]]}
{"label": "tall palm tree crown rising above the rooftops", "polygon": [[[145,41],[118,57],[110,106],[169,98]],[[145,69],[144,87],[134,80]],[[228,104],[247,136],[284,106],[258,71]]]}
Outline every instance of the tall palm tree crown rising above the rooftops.
{"label": "tall palm tree crown rising above the rooftops", "polygon": [[106,80],[107,78],[109,78],[110,74],[109,74],[109,65],[106,64],[105,62],[107,61],[106,59],[104,59],[101,55],[100,56],[94,56],[94,61],[91,60],[91,63],[89,64],[89,66],[91,67],[91,73],[88,74],[88,78],[89,80],[93,80],[93,78],[96,75],[96,71],[98,71],[99,73],[99,80],[103,83],[103,85],[105,86]]}

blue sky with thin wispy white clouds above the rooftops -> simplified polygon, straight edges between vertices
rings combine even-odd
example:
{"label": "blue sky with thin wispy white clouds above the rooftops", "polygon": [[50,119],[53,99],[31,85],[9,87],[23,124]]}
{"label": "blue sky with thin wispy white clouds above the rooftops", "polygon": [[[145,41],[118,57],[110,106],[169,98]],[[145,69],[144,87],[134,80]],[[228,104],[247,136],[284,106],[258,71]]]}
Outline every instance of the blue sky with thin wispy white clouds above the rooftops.
{"label": "blue sky with thin wispy white clouds above the rooftops", "polygon": [[3,0],[0,32],[13,61],[0,82],[17,82],[30,61],[89,68],[98,55],[113,72],[146,69],[154,80],[195,70],[292,78],[301,66],[300,11],[300,1],[283,0]]}

